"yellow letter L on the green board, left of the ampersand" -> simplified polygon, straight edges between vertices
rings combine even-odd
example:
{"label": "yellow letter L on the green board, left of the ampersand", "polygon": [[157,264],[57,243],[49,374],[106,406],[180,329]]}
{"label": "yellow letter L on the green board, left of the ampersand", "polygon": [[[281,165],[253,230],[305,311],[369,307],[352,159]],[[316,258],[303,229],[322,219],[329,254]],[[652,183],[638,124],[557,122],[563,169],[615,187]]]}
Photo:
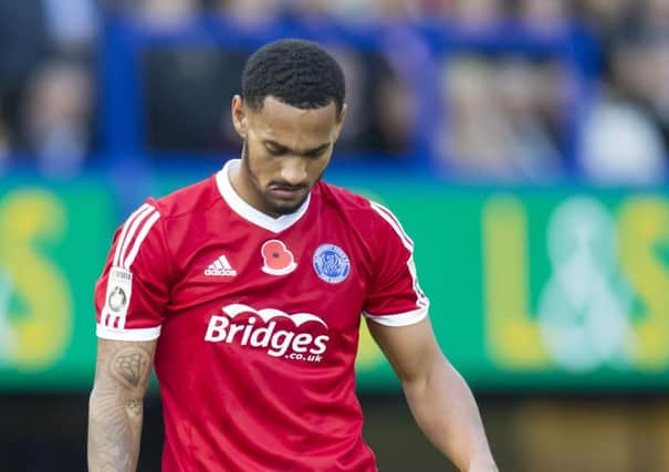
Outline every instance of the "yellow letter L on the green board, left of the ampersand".
{"label": "yellow letter L on the green board, left of the ampersand", "polygon": [[492,197],[483,208],[485,344],[492,361],[510,369],[550,364],[530,313],[527,223],[521,201]]}

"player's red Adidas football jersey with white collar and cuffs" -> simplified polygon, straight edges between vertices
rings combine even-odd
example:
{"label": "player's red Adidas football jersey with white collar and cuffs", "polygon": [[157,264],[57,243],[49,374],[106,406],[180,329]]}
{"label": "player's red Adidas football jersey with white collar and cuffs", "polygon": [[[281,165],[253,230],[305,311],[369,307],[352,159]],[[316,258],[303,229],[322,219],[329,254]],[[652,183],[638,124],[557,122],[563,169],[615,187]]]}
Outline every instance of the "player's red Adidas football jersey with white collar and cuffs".
{"label": "player's red Adidas football jersey with white collar and cuffs", "polygon": [[165,472],[375,471],[355,396],[360,315],[427,315],[414,244],[386,208],[325,182],[271,218],[228,169],[116,231],[97,336],[159,337]]}

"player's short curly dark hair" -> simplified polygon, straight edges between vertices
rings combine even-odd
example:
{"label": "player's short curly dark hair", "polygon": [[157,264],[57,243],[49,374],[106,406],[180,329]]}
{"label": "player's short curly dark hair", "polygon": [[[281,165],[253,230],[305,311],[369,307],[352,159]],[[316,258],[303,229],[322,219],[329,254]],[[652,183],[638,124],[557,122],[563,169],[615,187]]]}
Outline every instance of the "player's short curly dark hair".
{"label": "player's short curly dark hair", "polygon": [[318,44],[283,39],[265,44],[247,61],[242,95],[248,106],[262,109],[272,96],[301,109],[327,106],[342,112],[346,87],[342,67]]}

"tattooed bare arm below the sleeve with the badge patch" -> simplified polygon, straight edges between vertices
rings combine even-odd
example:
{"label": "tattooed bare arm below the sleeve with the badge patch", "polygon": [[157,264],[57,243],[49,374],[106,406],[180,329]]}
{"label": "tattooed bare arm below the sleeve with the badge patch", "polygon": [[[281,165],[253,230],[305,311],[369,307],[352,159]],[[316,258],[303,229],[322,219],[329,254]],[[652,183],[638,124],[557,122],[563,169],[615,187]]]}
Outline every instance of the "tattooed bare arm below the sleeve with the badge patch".
{"label": "tattooed bare arm below the sleeve with the badge patch", "polygon": [[88,403],[88,470],[137,469],[143,400],[156,340],[97,340],[95,381]]}

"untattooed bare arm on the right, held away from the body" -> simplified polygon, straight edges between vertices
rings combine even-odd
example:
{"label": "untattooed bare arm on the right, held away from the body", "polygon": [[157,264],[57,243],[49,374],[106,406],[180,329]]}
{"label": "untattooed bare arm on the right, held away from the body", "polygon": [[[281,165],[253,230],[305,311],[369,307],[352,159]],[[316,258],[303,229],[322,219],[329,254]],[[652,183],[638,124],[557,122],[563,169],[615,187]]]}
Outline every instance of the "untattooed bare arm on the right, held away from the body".
{"label": "untattooed bare arm on the right, held away from the body", "polygon": [[463,472],[496,471],[471,390],[441,353],[429,319],[404,327],[367,326],[428,439]]}

